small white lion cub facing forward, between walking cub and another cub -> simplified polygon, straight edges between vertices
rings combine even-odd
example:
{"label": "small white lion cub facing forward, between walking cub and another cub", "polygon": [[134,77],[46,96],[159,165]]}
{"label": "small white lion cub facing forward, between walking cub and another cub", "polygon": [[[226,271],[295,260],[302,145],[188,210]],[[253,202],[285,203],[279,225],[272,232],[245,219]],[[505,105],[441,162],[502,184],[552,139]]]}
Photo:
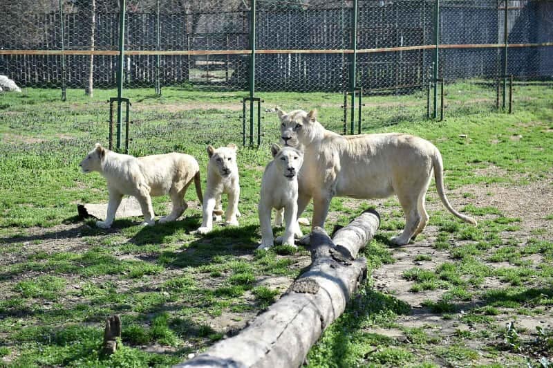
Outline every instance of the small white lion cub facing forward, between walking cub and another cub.
{"label": "small white lion cub facing forward, between walking cub and another cub", "polygon": [[221,211],[221,194],[228,195],[225,225],[238,226],[236,217],[240,216],[240,212],[238,212],[240,184],[236,165],[237,149],[236,145],[232,144],[218,149],[214,149],[212,145],[207,146],[209,163],[207,164],[207,186],[205,187],[205,201],[203,201],[202,226],[198,228],[200,234],[207,234],[212,230],[214,214]]}

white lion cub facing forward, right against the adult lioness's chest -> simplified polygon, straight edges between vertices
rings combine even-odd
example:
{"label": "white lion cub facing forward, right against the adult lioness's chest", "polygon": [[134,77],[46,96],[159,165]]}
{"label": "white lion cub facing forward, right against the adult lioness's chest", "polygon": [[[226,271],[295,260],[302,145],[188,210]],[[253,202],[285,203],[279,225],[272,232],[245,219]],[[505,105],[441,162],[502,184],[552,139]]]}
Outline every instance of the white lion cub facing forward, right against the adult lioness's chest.
{"label": "white lion cub facing forward, right against the adult lioness's chest", "polygon": [[283,244],[294,246],[294,235],[301,237],[297,223],[298,212],[298,178],[297,174],[303,163],[303,153],[292,147],[271,146],[273,160],[265,167],[261,179],[261,199],[259,201],[259,224],[261,226],[261,244],[257,249],[273,246],[274,237],[271,228],[271,210],[277,209],[275,225],[282,222],[284,210],[285,229]]}

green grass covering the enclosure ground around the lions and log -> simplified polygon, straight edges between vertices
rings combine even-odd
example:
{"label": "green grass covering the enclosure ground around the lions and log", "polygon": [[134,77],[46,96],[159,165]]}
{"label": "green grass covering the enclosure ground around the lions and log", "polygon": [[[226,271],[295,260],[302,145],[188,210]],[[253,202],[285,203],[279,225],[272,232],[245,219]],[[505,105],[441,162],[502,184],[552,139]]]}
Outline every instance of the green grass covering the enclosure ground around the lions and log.
{"label": "green grass covering the enclosure ground around the lions and log", "polygon": [[[186,196],[189,209],[176,223],[142,228],[140,218],[118,219],[106,231],[95,228],[94,221],[77,219],[77,203],[107,199],[104,178],[82,174],[78,163],[95,142],[106,145],[105,101],[114,95],[114,90],[97,89],[90,100],[82,91],[69,90],[68,101],[62,102],[54,90],[0,94],[0,292],[5,295],[0,356],[14,366],[174,365],[229,332],[218,320],[245,323],[285,291],[285,285],[261,284],[264,280],[293,279],[309,263],[302,247],[256,250],[261,172],[270,160],[270,143],[279,137],[277,117],[265,108],[315,108],[328,129],[341,131],[341,93],[261,93],[262,145],[250,149],[241,147],[244,92],[168,87],[159,97],[151,89],[125,91],[133,103],[129,149],[135,156],[182,151],[195,156],[205,172],[206,145],[240,146],[241,226],[216,226],[205,237],[190,234],[201,222],[194,190]],[[510,115],[490,109],[494,100],[494,89],[472,81],[447,86],[447,119],[441,122],[424,119],[424,93],[366,96],[363,108],[366,133],[402,131],[434,142],[444,158],[447,192],[460,190],[467,204],[458,209],[478,219],[474,228],[445,210],[433,211],[429,226],[437,237],[398,275],[413,283],[409,294],[438,295],[423,302],[425,313],[474,326],[476,332],[458,329],[444,339],[435,326],[404,327],[402,318],[418,309],[380,293],[369,281],[311,349],[308,366],[478,365],[478,354],[487,361],[507,354],[505,360],[524,363],[521,353],[537,364],[539,354],[551,355],[548,329],[518,329],[521,349],[516,353],[501,350],[491,341],[496,335],[482,332],[503,333],[496,326],[503,315],[543,317],[553,305],[553,243],[546,238],[551,229],[536,228],[519,239],[527,219],[481,203],[482,196],[474,192],[479,187],[492,196],[493,185],[550,178],[553,136],[544,131],[553,127],[553,91],[546,84],[517,86]],[[217,107],[204,109],[202,102]],[[509,139],[513,134],[523,138]],[[486,170],[491,165],[498,173]],[[433,185],[430,192],[435,193]],[[430,195],[428,201],[439,200]],[[156,215],[167,214],[167,203],[166,197],[153,199]],[[334,199],[330,211],[338,220],[328,221],[326,230],[336,222],[345,225],[369,206],[382,215],[377,236],[362,252],[371,275],[393,264],[402,251],[388,243],[404,226],[397,200]],[[305,215],[311,214],[310,205]],[[545,222],[553,219],[547,212],[540,216]],[[447,260],[440,259],[442,253]],[[491,281],[499,286],[485,287]],[[122,349],[105,358],[99,353],[103,324],[115,313],[123,320]],[[403,338],[372,329],[395,329]]]}

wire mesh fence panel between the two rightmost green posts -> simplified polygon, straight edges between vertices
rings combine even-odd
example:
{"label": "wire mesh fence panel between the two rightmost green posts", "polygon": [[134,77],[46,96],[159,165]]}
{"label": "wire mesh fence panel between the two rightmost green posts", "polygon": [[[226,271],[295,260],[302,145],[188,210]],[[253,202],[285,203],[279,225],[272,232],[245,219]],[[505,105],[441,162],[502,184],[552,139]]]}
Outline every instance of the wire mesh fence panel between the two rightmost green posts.
{"label": "wire mesh fence panel between the two rightmost green posts", "polygon": [[440,2],[440,75],[447,116],[493,111],[503,74],[496,0]]}

